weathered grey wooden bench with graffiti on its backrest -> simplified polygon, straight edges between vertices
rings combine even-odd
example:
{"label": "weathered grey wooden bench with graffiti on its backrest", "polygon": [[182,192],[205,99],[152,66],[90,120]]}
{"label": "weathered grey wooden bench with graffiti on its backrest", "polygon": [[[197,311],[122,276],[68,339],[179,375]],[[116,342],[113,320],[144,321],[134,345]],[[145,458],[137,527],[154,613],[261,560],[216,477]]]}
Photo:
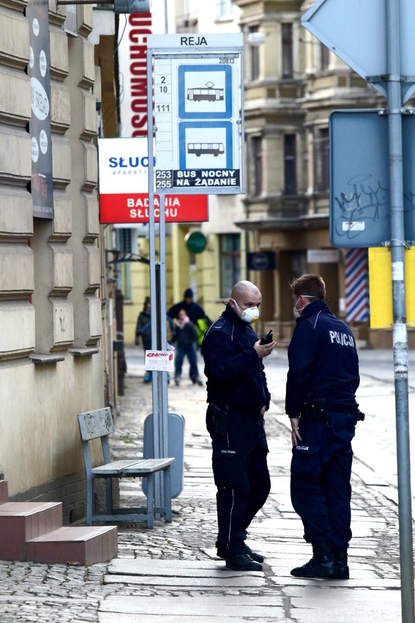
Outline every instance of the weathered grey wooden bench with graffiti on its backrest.
{"label": "weathered grey wooden bench with graffiti on its backrest", "polygon": [[[111,409],[97,409],[78,414],[78,425],[82,439],[83,460],[86,470],[86,525],[93,521],[145,521],[153,527],[154,514],[164,515],[166,521],[172,520],[172,498],[170,465],[174,459],[119,460],[111,462],[108,435],[114,432]],[[89,443],[91,439],[101,439],[104,464],[92,467]],[[164,506],[154,505],[154,475],[164,472]],[[113,478],[147,478],[147,505],[139,508],[113,508]],[[94,513],[93,480],[106,478],[106,515]]]}

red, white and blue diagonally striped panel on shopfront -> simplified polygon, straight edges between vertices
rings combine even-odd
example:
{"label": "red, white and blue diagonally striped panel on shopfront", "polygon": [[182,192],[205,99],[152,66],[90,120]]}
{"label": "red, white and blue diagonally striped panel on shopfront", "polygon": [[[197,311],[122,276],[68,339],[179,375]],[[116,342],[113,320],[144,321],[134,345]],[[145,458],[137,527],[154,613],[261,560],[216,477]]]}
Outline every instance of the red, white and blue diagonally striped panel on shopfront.
{"label": "red, white and blue diagonally striped panel on shopfront", "polygon": [[346,251],[346,322],[369,320],[369,270],[366,249]]}

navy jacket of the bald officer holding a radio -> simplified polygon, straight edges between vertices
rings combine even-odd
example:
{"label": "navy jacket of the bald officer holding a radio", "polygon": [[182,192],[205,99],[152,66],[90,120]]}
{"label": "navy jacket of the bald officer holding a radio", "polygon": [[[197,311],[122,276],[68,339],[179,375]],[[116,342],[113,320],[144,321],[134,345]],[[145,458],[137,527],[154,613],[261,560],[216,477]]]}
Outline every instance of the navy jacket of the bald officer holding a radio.
{"label": "navy jacket of the bald officer holding a radio", "polygon": [[260,411],[271,398],[262,359],[253,348],[258,337],[229,303],[206,331],[202,343],[207,402],[239,411]]}

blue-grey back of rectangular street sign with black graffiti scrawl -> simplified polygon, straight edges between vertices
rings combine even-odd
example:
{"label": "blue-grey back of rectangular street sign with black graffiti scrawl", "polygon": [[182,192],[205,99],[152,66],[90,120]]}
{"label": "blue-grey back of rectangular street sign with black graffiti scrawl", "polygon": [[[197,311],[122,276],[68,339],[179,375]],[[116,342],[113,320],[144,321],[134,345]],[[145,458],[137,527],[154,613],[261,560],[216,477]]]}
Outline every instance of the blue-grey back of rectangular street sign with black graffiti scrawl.
{"label": "blue-grey back of rectangular street sign with black graffiti scrawl", "polygon": [[[381,247],[391,239],[388,117],[335,110],[329,119],[330,244]],[[405,240],[415,240],[415,115],[403,116]]]}

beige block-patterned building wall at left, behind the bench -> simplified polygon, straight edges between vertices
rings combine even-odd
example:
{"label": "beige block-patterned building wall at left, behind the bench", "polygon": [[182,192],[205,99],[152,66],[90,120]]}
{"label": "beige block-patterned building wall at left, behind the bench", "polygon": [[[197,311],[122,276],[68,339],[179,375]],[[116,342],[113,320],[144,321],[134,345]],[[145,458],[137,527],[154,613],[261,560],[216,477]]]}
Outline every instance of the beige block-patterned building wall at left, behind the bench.
{"label": "beige block-patterned building wall at left, behind the bench", "polygon": [[[90,6],[50,0],[35,19],[31,8],[0,1],[0,472],[11,500],[60,500],[68,523],[85,497],[77,414],[105,402],[99,72],[96,82]],[[50,55],[38,56],[32,37],[44,27]],[[39,62],[50,92],[29,77]],[[49,143],[34,134],[35,110]],[[52,148],[53,207],[42,216],[37,145]]]}

